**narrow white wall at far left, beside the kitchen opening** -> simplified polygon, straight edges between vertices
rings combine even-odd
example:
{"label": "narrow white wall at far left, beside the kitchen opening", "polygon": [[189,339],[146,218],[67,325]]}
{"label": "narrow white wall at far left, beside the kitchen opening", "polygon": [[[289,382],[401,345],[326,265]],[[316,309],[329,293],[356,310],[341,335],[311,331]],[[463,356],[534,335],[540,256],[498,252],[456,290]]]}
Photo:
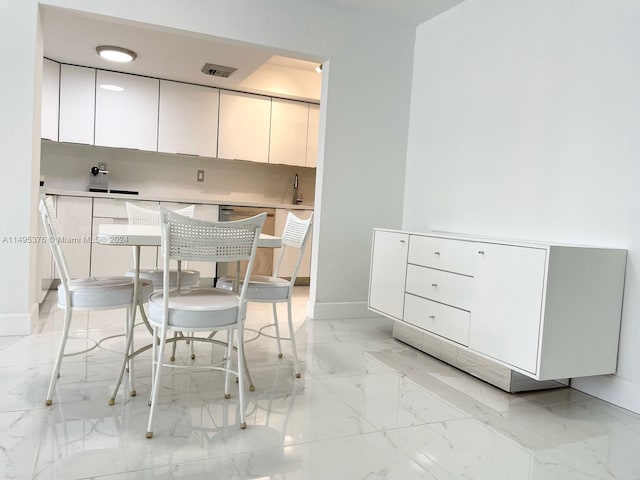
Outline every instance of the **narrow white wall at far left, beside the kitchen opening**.
{"label": "narrow white wall at far left, beside the kitchen opening", "polygon": [[[18,243],[36,228],[40,156],[40,79],[42,43],[37,4],[0,2],[0,331],[24,334],[37,315],[35,249]],[[6,21],[5,19],[11,19]],[[19,46],[19,48],[16,48]]]}

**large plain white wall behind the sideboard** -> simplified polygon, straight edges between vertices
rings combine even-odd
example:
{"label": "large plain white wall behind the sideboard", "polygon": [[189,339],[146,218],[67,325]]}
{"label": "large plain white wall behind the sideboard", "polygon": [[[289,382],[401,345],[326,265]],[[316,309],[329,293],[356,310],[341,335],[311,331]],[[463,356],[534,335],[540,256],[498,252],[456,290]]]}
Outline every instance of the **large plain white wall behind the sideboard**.
{"label": "large plain white wall behind the sideboard", "polygon": [[416,34],[403,228],[629,250],[618,373],[640,412],[640,3],[466,0]]}

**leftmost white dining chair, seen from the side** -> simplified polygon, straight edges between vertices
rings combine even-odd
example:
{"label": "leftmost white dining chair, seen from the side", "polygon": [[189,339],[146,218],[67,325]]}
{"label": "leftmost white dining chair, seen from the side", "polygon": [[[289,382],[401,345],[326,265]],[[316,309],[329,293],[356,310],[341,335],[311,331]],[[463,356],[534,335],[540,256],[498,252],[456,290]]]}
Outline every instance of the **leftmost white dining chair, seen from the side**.
{"label": "leftmost white dining chair, seen from the side", "polygon": [[[132,278],[121,277],[86,277],[71,278],[69,268],[64,256],[62,244],[65,239],[60,231],[52,197],[46,196],[40,200],[40,215],[44,224],[47,240],[53,254],[53,260],[60,276],[58,287],[58,307],[64,309],[64,323],[60,345],[56,354],[49,389],[47,391],[46,405],[53,403],[53,389],[60,375],[62,358],[67,356],[65,346],[69,338],[71,317],[74,311],[108,310],[116,308],[127,309],[126,330],[129,333],[133,329],[133,292],[134,282]],[[140,299],[146,302],[152,293],[151,282],[140,282]],[[76,352],[83,353],[83,352]],[[129,365],[130,344],[127,343],[124,352],[123,364],[117,381],[120,384],[124,370]],[[130,375],[131,378],[131,375]],[[117,388],[117,387],[116,387]],[[117,390],[116,390],[117,391]],[[115,397],[115,393],[113,395]]]}

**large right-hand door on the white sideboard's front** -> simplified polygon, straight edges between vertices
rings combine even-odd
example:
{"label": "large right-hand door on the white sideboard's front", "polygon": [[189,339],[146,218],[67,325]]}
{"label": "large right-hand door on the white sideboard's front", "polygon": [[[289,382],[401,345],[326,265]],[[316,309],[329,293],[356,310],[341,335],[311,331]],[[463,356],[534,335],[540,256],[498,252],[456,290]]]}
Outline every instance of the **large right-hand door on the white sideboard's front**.
{"label": "large right-hand door on the white sideboard's front", "polygon": [[546,250],[477,247],[469,348],[536,373]]}

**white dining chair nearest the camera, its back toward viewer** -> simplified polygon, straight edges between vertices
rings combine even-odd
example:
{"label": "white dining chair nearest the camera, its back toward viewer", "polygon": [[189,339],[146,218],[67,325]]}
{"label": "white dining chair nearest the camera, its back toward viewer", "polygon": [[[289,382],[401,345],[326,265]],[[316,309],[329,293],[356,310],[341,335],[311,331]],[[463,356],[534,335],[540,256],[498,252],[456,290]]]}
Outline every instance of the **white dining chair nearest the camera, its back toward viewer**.
{"label": "white dining chair nearest the camera, its back toward viewer", "polygon": [[[223,364],[203,365],[204,369],[225,372],[224,394],[230,397],[230,374],[238,378],[240,403],[240,428],[246,428],[245,420],[245,359],[244,320],[246,316],[247,287],[239,292],[225,291],[214,287],[183,288],[169,285],[169,262],[178,263],[178,271],[183,261],[239,262],[248,260],[244,284],[248,284],[255,261],[256,248],[266,213],[244,220],[232,222],[208,222],[187,218],[161,207],[162,255],[164,263],[164,283],[161,292],[154,293],[149,300],[149,321],[153,326],[154,338],[159,337],[159,345],[153,342],[152,389],[149,410],[147,438],[153,437],[153,419],[158,403],[158,391],[162,379],[162,369],[193,368],[192,365],[177,365],[164,360],[167,333],[218,332],[227,331],[227,346]],[[234,331],[237,331],[237,363],[232,368]],[[175,339],[174,339],[175,340]],[[190,336],[189,340],[212,342],[209,336]]]}

